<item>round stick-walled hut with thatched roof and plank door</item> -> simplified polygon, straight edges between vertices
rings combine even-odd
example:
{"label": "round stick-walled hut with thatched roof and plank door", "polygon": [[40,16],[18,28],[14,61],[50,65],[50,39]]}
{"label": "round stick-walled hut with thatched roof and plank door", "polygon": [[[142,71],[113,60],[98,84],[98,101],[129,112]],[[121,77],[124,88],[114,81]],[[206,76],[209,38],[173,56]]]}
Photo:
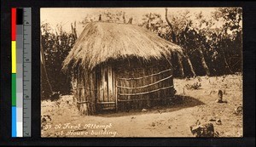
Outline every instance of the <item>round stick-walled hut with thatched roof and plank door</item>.
{"label": "round stick-walled hut with thatched roof and plank door", "polygon": [[172,57],[182,49],[137,25],[88,23],[64,60],[79,110],[143,109],[173,98]]}

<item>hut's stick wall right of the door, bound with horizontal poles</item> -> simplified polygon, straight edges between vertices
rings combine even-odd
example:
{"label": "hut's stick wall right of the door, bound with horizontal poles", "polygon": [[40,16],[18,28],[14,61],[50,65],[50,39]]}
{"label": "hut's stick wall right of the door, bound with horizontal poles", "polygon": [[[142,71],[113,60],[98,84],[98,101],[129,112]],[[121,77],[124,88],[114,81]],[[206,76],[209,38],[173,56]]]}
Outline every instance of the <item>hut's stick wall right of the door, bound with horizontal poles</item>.
{"label": "hut's stick wall right of the door, bound with horizontal poles", "polygon": [[[124,66],[125,69],[122,68]],[[124,62],[114,68],[114,73],[118,78],[117,100],[120,111],[167,105],[168,99],[173,97],[172,70],[166,62],[153,61],[144,65]]]}

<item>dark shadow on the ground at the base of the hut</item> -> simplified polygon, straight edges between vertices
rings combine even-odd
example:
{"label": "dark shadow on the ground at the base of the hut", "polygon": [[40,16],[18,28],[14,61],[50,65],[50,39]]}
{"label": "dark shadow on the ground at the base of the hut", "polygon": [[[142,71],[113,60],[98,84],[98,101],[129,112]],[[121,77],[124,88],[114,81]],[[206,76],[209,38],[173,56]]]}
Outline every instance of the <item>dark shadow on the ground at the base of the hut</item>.
{"label": "dark shadow on the ground at the base of the hut", "polygon": [[175,110],[182,110],[184,108],[195,107],[197,105],[205,105],[198,99],[185,95],[175,95],[175,98],[172,99],[172,103],[169,105],[154,106],[152,108],[144,108],[143,110],[129,110],[129,112],[115,112],[114,110],[105,111],[102,114],[96,116],[102,117],[116,117],[116,116],[135,116],[143,114],[152,114],[152,113],[165,113],[172,112]]}

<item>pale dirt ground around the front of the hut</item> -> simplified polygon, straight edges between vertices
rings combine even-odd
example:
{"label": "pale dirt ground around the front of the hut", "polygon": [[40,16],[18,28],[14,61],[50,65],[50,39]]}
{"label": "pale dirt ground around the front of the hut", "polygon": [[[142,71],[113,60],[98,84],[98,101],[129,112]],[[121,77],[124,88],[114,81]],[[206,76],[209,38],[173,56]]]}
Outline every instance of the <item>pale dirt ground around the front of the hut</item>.
{"label": "pale dirt ground around the front of the hut", "polygon": [[[185,85],[200,83],[199,89]],[[218,137],[242,137],[242,76],[174,79],[174,104],[130,112],[81,116],[73,95],[41,103],[42,137],[194,137],[189,126],[211,122]],[[226,103],[217,103],[218,90]],[[220,120],[218,124],[216,120]]]}

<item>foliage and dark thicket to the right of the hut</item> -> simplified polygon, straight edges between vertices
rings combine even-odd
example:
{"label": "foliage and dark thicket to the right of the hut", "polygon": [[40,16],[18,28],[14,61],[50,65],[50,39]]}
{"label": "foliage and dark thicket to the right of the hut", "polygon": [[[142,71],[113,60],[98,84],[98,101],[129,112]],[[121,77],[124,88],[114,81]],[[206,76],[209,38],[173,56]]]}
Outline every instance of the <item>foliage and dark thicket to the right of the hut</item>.
{"label": "foliage and dark thicket to the right of the hut", "polygon": [[160,14],[143,15],[143,22],[139,25],[182,46],[196,75],[206,75],[203,60],[212,76],[241,71],[241,8],[216,8],[209,18],[202,12],[191,14],[188,10],[167,17],[172,29]]}

